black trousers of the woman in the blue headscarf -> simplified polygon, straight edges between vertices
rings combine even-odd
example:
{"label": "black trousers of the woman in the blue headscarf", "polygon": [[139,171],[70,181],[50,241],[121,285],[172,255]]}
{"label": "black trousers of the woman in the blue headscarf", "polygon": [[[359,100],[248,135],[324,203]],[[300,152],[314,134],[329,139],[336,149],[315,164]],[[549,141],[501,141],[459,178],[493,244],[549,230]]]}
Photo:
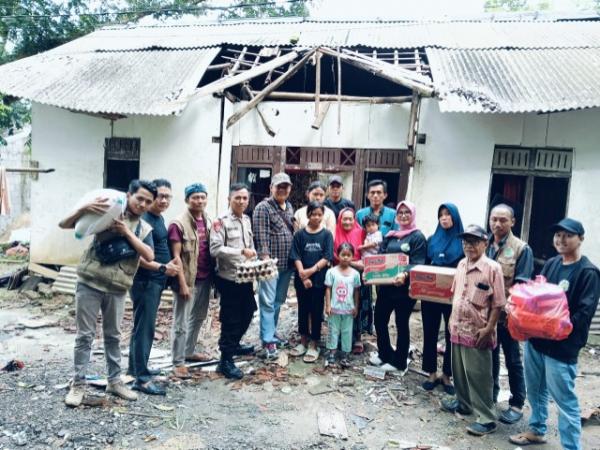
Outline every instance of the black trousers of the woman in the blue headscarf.
{"label": "black trousers of the woman in the blue headscarf", "polygon": [[444,375],[452,376],[452,344],[450,343],[450,332],[448,331],[448,321],[450,320],[451,312],[452,305],[428,301],[421,302],[421,317],[423,319],[422,368],[427,373],[437,372],[437,341],[443,317],[446,350],[444,351],[442,370]]}

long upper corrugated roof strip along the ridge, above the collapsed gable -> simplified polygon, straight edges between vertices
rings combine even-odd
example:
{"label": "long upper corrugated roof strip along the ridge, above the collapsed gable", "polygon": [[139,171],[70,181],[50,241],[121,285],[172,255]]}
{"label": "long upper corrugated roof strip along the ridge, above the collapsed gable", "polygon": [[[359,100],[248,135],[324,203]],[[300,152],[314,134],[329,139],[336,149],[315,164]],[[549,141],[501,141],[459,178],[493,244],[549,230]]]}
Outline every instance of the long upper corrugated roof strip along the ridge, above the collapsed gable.
{"label": "long upper corrugated roof strip along the ridge, above the collapsed gable", "polygon": [[237,44],[374,48],[600,47],[600,22],[319,22],[252,21],[170,26],[107,27],[62,50],[182,49]]}

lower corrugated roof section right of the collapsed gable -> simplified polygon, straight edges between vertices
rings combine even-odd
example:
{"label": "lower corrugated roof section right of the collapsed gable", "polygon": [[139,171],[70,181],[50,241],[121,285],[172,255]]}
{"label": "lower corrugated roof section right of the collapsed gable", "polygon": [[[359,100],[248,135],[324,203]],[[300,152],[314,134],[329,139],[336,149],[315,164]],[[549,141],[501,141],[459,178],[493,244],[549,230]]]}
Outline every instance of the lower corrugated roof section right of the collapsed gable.
{"label": "lower corrugated roof section right of the collapsed gable", "polygon": [[427,49],[444,112],[551,112],[600,106],[600,49]]}

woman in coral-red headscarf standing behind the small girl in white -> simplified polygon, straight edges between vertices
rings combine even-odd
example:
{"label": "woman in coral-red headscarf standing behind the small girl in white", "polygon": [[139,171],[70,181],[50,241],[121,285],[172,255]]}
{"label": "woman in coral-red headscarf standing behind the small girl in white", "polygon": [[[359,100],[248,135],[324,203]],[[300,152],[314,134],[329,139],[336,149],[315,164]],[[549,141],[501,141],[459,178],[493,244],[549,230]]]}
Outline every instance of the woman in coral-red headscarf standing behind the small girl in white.
{"label": "woman in coral-red headscarf standing behind the small girl in white", "polygon": [[[340,244],[348,242],[354,247],[354,257],[350,265],[362,273],[364,265],[361,259],[358,248],[365,240],[365,231],[358,224],[356,215],[352,208],[344,208],[340,211],[335,227],[335,242],[334,249],[337,249]],[[334,263],[337,264],[337,255],[334,253]],[[353,353],[362,353],[363,343],[361,340],[362,333],[373,332],[373,303],[371,301],[371,286],[362,285],[360,289],[360,303],[358,314],[354,319],[352,330],[353,337]]]}

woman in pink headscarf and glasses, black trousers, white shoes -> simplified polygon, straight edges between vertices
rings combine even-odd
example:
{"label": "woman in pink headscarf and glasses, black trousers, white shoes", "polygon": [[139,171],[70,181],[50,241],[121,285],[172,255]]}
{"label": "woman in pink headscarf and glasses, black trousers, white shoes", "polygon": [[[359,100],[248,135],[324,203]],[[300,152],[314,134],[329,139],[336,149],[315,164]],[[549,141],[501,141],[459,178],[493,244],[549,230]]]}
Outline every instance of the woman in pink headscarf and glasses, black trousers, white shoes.
{"label": "woman in pink headscarf and glasses, black trousers, white shoes", "polygon": [[[378,352],[373,352],[369,362],[385,370],[408,370],[410,329],[408,321],[416,301],[408,296],[408,270],[416,264],[425,264],[427,240],[416,225],[416,208],[412,202],[403,200],[396,208],[397,230],[389,231],[381,244],[379,253],[403,253],[409,258],[409,266],[394,280],[394,284],[381,285],[375,304],[375,331]],[[396,317],[396,350],[390,343],[388,325],[392,312]]]}

